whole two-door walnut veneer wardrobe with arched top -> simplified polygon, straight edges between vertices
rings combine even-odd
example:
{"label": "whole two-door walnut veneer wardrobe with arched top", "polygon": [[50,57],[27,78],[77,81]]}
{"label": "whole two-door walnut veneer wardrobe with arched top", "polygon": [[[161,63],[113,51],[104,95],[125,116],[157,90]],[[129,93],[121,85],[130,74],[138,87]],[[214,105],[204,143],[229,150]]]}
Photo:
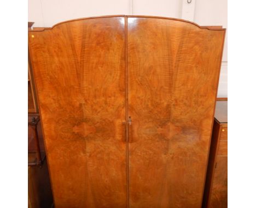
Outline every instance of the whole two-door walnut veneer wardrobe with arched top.
{"label": "whole two-door walnut veneer wardrobe with arched top", "polygon": [[55,207],[201,207],[225,29],[101,16],[28,32]]}

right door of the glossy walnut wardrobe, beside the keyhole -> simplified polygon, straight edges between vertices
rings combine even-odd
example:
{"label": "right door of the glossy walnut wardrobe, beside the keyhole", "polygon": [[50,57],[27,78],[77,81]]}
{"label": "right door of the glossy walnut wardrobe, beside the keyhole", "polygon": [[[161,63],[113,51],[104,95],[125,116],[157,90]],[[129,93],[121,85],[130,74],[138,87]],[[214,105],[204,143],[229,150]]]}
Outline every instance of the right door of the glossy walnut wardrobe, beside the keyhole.
{"label": "right door of the glossy walnut wardrobe, beside the keyhole", "polygon": [[225,29],[127,19],[130,207],[201,207]]}

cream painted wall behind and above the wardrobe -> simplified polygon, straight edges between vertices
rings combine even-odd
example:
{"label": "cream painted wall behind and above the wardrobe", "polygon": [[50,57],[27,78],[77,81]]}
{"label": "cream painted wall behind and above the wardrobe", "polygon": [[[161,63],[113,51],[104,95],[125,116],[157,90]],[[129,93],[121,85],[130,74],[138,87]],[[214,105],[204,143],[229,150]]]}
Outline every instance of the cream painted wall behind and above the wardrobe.
{"label": "cream painted wall behind and above the wardrobe", "polygon": [[[152,15],[185,19],[201,26],[228,28],[228,0],[28,0],[28,21],[34,27],[101,15]],[[220,73],[219,97],[228,96],[228,39]]]}

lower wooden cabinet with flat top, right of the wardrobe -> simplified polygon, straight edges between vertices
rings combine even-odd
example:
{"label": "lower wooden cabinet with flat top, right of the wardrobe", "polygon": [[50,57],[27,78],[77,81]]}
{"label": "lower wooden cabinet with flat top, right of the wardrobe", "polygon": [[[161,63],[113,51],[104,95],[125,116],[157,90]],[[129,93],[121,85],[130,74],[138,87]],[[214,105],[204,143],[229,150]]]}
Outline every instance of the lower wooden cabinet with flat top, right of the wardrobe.
{"label": "lower wooden cabinet with flat top, right of the wardrobe", "polygon": [[228,207],[228,101],[217,101],[203,207]]}

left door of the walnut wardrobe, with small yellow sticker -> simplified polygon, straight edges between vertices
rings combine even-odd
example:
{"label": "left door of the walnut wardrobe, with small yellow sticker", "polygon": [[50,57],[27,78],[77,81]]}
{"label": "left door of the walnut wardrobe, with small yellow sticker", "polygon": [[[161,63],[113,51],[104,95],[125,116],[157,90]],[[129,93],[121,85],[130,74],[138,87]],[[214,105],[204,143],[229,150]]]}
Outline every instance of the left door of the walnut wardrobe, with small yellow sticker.
{"label": "left door of the walnut wardrobe, with small yellow sticker", "polygon": [[55,207],[126,207],[123,16],[29,32]]}

